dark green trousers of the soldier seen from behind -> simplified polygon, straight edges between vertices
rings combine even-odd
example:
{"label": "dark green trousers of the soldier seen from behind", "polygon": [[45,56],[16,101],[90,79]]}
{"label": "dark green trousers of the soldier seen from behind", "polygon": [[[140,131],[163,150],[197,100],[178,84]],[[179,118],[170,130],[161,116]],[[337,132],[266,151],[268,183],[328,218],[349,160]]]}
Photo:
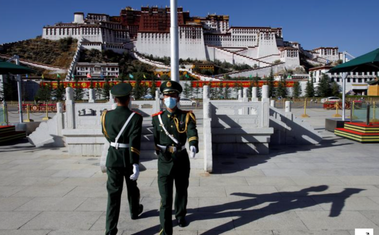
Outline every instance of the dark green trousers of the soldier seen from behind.
{"label": "dark green trousers of the soldier seen from behind", "polygon": [[108,206],[106,218],[106,233],[117,233],[117,223],[120,215],[121,194],[124,183],[126,181],[126,189],[128,193],[130,214],[138,214],[139,210],[139,189],[137,181],[131,180],[132,169],[125,167],[107,167],[107,191]]}

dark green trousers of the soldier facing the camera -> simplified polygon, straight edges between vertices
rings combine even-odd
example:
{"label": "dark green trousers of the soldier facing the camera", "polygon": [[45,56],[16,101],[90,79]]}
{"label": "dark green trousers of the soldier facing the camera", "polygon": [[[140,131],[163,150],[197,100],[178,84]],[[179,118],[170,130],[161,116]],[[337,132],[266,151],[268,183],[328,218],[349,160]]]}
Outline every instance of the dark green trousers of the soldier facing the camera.
{"label": "dark green trousers of the soldier facing the camera", "polygon": [[159,155],[158,188],[161,195],[159,220],[160,235],[172,235],[172,194],[175,182],[175,218],[182,219],[187,213],[189,184],[189,158],[186,151],[171,156]]}

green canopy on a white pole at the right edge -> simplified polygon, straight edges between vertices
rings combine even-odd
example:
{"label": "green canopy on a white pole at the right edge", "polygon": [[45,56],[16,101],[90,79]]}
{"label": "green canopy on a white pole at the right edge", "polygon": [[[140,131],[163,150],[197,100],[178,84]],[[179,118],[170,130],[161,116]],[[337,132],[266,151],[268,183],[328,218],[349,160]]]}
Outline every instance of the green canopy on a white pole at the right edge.
{"label": "green canopy on a white pole at the right edge", "polygon": [[[345,61],[345,53],[344,60]],[[345,87],[348,72],[379,72],[379,48],[357,57],[349,62],[340,64],[327,73],[343,73],[342,103],[345,104]],[[342,120],[345,121],[345,105],[342,106]]]}

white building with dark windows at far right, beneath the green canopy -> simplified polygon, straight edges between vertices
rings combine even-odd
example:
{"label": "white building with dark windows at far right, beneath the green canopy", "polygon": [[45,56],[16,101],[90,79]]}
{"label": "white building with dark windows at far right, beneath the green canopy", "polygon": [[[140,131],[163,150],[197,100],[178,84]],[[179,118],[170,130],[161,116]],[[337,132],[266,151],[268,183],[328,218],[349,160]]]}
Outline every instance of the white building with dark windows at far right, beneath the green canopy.
{"label": "white building with dark windows at far right, beneath the green canopy", "polygon": [[[309,79],[312,79],[315,86],[320,82],[323,74],[328,75],[331,82],[337,82],[342,91],[342,73],[328,73],[334,66],[322,66],[309,69]],[[355,95],[367,95],[367,81],[374,80],[379,76],[379,72],[350,72],[346,78],[346,93]]]}

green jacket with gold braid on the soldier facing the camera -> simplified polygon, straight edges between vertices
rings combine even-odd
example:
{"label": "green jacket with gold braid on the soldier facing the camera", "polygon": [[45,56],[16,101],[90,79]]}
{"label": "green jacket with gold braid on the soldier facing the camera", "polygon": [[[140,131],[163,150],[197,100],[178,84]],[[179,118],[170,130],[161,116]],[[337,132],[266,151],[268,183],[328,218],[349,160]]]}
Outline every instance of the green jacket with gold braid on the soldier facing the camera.
{"label": "green jacket with gold braid on the soldier facing the camera", "polygon": [[[176,146],[175,142],[166,135],[160,125],[158,115],[161,115],[162,122],[167,131],[173,135],[181,146],[185,145],[188,139],[189,146],[195,146],[199,152],[199,136],[196,129],[196,118],[192,111],[176,109],[173,113],[169,111],[159,112],[153,115],[153,130],[155,145]],[[182,132],[182,133],[179,133]],[[159,149],[156,146],[156,150]]]}

